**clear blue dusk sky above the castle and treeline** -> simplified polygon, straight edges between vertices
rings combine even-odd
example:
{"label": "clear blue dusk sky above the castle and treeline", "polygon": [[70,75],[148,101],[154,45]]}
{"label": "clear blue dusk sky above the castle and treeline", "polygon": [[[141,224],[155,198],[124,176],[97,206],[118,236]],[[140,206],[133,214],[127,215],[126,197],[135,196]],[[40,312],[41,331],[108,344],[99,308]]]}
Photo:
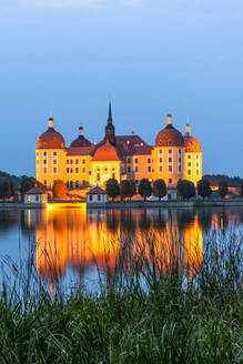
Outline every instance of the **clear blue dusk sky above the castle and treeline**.
{"label": "clear blue dusk sky above the castle and treeline", "polygon": [[67,146],[80,122],[153,144],[169,109],[203,174],[243,178],[242,0],[0,0],[0,170],[34,174],[50,111]]}

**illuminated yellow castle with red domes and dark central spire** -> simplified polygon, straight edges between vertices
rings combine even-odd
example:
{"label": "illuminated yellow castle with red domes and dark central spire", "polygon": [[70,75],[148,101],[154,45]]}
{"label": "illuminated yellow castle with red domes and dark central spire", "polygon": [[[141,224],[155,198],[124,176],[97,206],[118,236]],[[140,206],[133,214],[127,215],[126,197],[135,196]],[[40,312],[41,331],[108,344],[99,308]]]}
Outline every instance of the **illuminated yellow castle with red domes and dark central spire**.
{"label": "illuminated yellow castle with red domes and dark central spire", "polygon": [[180,179],[195,185],[202,179],[201,144],[192,136],[190,124],[185,135],[172,124],[168,115],[166,125],[149,145],[139,135],[117,135],[112,120],[111,103],[104,138],[100,143],[91,143],[80,135],[65,146],[63,136],[55,131],[53,119],[49,119],[48,130],[37,143],[37,180],[52,188],[54,180],[63,180],[67,186],[82,188],[102,185],[109,179],[119,182],[133,179],[154,181],[163,179],[168,186],[175,186]]}

